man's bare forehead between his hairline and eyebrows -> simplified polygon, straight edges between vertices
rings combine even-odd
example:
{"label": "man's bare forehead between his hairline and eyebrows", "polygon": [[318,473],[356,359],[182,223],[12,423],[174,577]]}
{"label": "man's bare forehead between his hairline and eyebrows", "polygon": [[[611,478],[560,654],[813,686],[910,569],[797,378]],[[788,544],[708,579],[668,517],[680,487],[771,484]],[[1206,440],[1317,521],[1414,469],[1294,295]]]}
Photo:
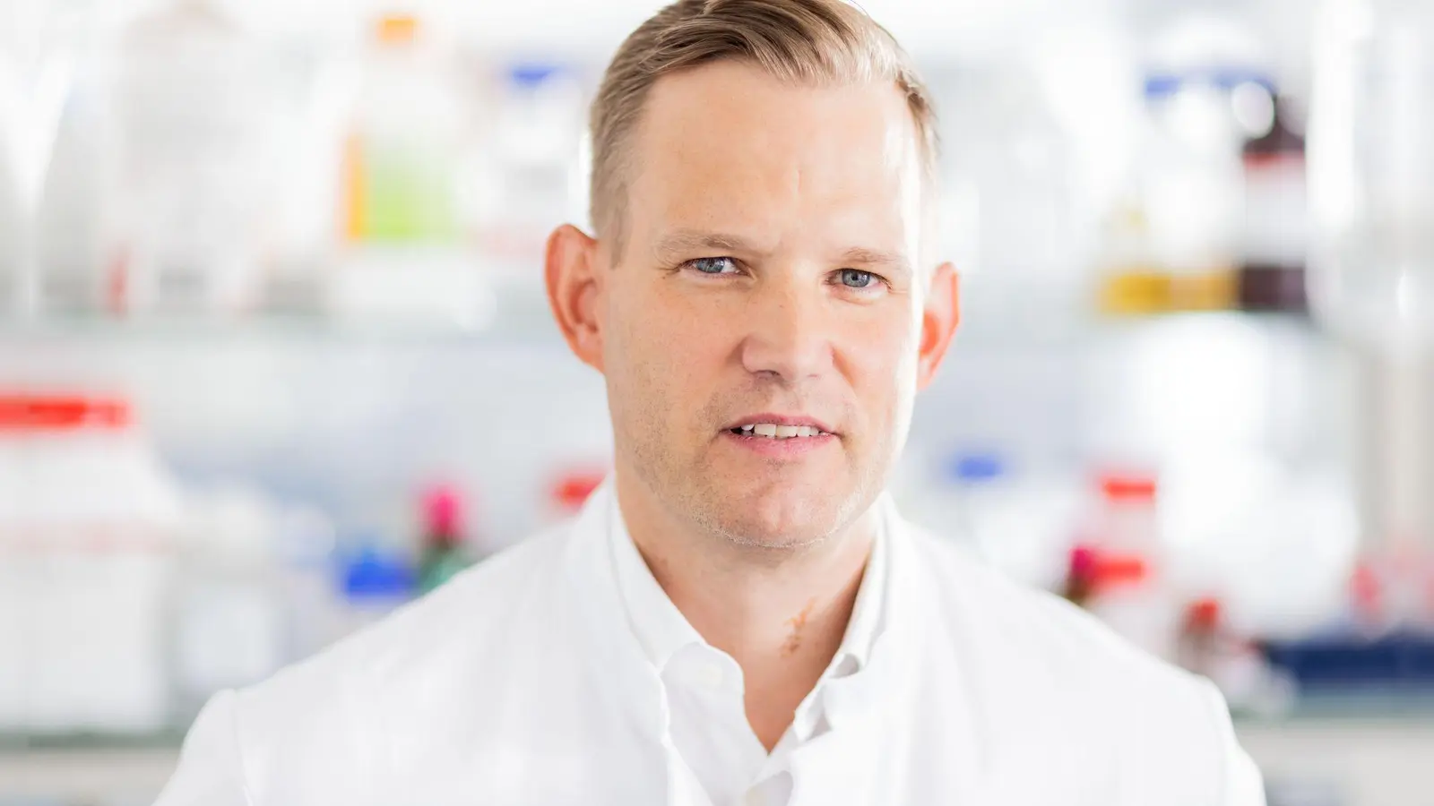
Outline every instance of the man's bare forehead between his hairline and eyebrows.
{"label": "man's bare forehead between his hairline and eyebrows", "polygon": [[891,82],[802,85],[734,60],[664,76],[632,145],[632,234],[716,228],[906,247],[919,221],[916,138]]}

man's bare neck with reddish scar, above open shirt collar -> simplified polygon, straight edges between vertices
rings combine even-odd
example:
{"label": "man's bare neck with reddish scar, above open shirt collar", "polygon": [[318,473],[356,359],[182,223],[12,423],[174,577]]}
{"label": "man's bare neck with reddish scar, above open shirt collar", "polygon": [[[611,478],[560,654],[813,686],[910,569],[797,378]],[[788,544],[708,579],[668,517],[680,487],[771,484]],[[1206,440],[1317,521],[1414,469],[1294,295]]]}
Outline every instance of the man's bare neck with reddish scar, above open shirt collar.
{"label": "man's bare neck with reddish scar, above open shirt collar", "polygon": [[747,719],[770,752],[832,663],[875,538],[868,512],[815,546],[766,549],[704,534],[617,476],[628,534],[677,610],[741,667]]}

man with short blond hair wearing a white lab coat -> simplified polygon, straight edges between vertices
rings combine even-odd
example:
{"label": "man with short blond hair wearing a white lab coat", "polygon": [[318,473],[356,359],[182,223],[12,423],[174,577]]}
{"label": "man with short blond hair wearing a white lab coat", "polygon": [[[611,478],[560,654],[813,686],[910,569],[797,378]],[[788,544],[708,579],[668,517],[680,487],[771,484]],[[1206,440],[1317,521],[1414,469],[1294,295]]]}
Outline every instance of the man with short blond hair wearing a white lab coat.
{"label": "man with short blond hair wearing a white lab coat", "polygon": [[935,120],[840,0],[681,0],[548,244],[615,473],[576,522],[195,723],[162,806],[1262,803],[1207,683],[882,489],[956,327]]}

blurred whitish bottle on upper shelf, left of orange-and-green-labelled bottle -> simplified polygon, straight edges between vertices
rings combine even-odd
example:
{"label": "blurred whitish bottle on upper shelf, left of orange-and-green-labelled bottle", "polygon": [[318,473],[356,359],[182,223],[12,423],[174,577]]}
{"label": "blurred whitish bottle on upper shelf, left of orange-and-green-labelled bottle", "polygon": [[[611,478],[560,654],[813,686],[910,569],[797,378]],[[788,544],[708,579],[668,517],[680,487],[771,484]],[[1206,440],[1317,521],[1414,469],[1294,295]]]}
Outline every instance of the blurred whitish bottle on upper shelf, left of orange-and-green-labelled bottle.
{"label": "blurred whitish bottle on upper shelf, left of orange-and-green-labelled bottle", "polygon": [[119,310],[234,314],[260,303],[275,192],[264,53],[208,0],[123,34],[106,297]]}

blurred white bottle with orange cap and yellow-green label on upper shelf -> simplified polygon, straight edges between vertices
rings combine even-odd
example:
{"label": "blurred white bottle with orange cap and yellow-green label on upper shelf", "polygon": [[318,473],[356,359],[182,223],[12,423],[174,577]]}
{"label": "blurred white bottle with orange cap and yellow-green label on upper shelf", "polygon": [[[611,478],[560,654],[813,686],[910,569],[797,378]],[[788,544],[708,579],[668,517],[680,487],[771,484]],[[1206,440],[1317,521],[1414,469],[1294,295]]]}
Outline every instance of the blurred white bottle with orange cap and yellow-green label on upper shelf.
{"label": "blurred white bottle with orange cap and yellow-green label on upper shelf", "polygon": [[490,313],[462,244],[470,113],[455,80],[416,17],[379,20],[344,146],[331,313],[462,326]]}

